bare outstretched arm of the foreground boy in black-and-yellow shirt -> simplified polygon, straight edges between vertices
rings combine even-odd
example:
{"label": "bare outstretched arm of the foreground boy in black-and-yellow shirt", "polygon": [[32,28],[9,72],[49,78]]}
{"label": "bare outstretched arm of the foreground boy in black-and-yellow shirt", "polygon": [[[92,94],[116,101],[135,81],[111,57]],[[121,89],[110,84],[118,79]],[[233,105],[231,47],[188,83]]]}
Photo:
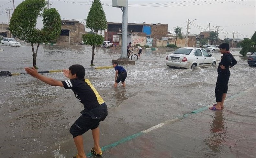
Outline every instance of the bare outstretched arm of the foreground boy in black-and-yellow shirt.
{"label": "bare outstretched arm of the foreground boy in black-and-yellow shirt", "polygon": [[43,76],[43,75],[40,75],[34,67],[32,67],[32,68],[25,68],[25,70],[26,70],[26,72],[27,72],[29,75],[31,75],[31,76],[33,76],[33,77],[35,77],[35,78],[37,78],[37,79],[39,79],[39,80],[41,80],[41,81],[43,81],[43,82],[49,84],[49,85],[51,85],[51,86],[60,86],[60,87],[63,87],[63,84],[62,84],[61,81],[58,81],[58,80],[55,80],[55,79],[52,79],[52,78],[49,78],[49,77],[45,77],[45,76]]}

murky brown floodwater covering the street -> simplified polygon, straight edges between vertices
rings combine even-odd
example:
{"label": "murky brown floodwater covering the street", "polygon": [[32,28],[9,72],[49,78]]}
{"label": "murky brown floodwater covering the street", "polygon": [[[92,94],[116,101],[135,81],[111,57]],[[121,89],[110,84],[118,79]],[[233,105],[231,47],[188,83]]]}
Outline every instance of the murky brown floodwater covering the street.
{"label": "murky brown floodwater covering the street", "polygon": [[[22,73],[24,67],[32,66],[30,45],[0,48],[4,49],[0,52],[0,71]],[[39,71],[68,68],[73,64],[91,68],[91,50],[84,45],[40,45],[37,66]],[[113,88],[114,68],[86,69],[85,78],[90,79],[109,109],[108,117],[100,125],[101,146],[161,122],[179,119],[215,102],[217,68],[169,68],[165,59],[172,52],[164,48],[144,49],[136,65],[124,65],[128,73],[126,88],[121,84]],[[231,53],[238,64],[230,69],[227,98],[251,91],[243,98],[255,100],[256,67],[249,67],[247,58],[239,56],[239,50],[231,49]],[[218,63],[221,54],[211,54]],[[111,59],[119,57],[118,48],[96,48],[95,67],[111,66]],[[43,75],[66,79],[62,73]],[[0,87],[0,157],[69,158],[76,154],[69,128],[83,106],[71,90],[51,87],[27,74],[1,77]],[[237,107],[228,105],[229,111],[195,114],[126,142],[124,146],[120,144],[117,151],[109,149],[103,157],[256,157],[255,105],[255,102],[245,102],[239,107],[240,113],[232,111]],[[220,126],[217,132],[216,125]],[[88,153],[93,146],[90,131],[84,134],[84,144]],[[123,154],[118,155],[118,151]]]}

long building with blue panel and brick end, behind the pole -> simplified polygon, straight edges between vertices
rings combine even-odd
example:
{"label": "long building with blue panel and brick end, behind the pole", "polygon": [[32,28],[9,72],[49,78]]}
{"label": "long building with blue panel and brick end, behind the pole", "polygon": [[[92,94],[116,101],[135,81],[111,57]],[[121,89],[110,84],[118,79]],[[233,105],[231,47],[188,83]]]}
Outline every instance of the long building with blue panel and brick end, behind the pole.
{"label": "long building with blue panel and brick end, behind the pole", "polygon": [[[128,23],[127,43],[131,42],[132,46],[140,44],[150,47],[157,46],[157,39],[166,37],[168,34],[168,24],[136,24]],[[113,44],[121,46],[122,23],[107,23],[105,32],[105,40],[113,42]]]}

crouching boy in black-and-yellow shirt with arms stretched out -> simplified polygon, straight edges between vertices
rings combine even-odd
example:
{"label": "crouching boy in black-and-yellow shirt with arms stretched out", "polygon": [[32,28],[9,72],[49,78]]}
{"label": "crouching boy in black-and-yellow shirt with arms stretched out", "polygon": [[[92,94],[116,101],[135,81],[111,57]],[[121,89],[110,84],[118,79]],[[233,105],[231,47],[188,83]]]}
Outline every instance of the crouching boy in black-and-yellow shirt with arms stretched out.
{"label": "crouching boy in black-and-yellow shirt with arms stretched out", "polygon": [[100,130],[98,126],[99,122],[103,121],[107,116],[107,106],[89,79],[84,79],[84,67],[82,65],[72,65],[69,67],[69,70],[64,69],[63,74],[69,78],[69,80],[64,81],[58,81],[40,75],[34,67],[25,68],[25,70],[31,76],[51,86],[60,86],[65,89],[71,89],[74,92],[75,97],[83,103],[84,110],[81,111],[82,115],[74,122],[69,130],[73,136],[78,152],[73,158],[86,158],[83,150],[82,134],[89,129],[92,130],[94,139],[94,147],[91,149],[91,153],[101,155],[102,151],[99,145]]}

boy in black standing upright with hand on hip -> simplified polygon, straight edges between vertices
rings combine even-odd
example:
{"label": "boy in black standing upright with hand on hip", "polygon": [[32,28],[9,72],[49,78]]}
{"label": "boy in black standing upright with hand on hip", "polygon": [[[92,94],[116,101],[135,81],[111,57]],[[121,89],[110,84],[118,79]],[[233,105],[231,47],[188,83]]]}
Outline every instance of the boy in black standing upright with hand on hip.
{"label": "boy in black standing upright with hand on hip", "polygon": [[221,61],[217,69],[218,77],[215,87],[215,97],[217,104],[214,104],[209,109],[211,110],[221,110],[224,108],[224,100],[228,92],[228,80],[230,76],[229,68],[237,64],[236,59],[229,52],[229,44],[222,43],[219,45],[219,51],[223,56],[221,56]]}

